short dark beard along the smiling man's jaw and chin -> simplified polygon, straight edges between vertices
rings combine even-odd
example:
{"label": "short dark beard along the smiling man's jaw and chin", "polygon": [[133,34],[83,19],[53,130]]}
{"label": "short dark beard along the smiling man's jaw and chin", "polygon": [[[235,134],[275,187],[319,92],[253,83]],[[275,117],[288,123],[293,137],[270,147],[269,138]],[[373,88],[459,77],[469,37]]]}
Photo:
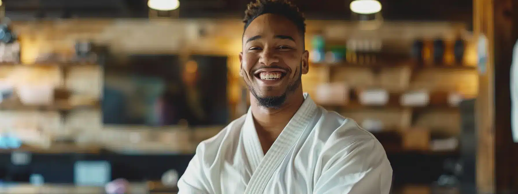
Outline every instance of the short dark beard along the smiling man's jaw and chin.
{"label": "short dark beard along the smiling man's jaw and chin", "polygon": [[[257,91],[255,91],[255,89],[252,86],[250,86],[249,83],[247,83],[247,86],[248,86],[248,89],[250,89],[250,92],[252,93],[252,95],[254,95],[254,97],[257,101],[257,104],[259,106],[265,107],[265,108],[278,109],[282,106],[284,101],[286,101],[286,96],[290,93],[294,93],[297,90],[297,88],[302,84],[301,78],[302,78],[302,64],[300,64],[297,80],[295,80],[292,84],[288,85],[286,87],[286,91],[284,91],[284,93],[280,96],[259,96],[257,94]],[[270,89],[271,88],[268,88],[268,90],[270,90]]]}

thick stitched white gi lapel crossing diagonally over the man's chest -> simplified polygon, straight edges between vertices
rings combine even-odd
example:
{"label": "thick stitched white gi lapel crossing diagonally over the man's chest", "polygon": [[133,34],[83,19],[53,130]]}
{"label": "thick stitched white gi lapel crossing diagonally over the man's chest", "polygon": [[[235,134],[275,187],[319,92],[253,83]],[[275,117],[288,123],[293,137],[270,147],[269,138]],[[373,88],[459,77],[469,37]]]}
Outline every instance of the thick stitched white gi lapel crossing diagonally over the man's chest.
{"label": "thick stitched white gi lapel crossing diagonally over the man's chest", "polygon": [[311,117],[315,115],[317,110],[315,103],[308,94],[305,93],[304,97],[306,100],[304,100],[302,106],[300,106],[297,113],[295,113],[290,122],[282,130],[279,137],[270,147],[270,150],[266,152],[266,155],[259,163],[257,169],[253,172],[244,193],[260,194],[264,192],[266,185],[279,167],[282,159],[297,142],[300,135],[302,135],[302,132],[311,121]]}

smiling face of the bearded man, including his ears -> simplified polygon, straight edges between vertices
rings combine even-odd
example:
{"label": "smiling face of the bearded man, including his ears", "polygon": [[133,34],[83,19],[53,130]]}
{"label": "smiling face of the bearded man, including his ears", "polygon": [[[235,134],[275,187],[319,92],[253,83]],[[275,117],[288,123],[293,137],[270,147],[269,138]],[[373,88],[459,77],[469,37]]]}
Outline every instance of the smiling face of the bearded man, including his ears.
{"label": "smiling face of the bearded man, including his ears", "polygon": [[290,20],[263,14],[243,33],[241,76],[260,106],[278,108],[308,72],[303,36]]}

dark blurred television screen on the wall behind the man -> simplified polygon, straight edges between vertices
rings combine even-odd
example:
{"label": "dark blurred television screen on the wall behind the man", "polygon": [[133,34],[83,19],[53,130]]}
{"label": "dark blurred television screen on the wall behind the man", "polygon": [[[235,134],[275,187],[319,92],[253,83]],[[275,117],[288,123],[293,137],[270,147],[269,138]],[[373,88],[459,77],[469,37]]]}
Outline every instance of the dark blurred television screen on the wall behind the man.
{"label": "dark blurred television screen on the wall behind the man", "polygon": [[227,58],[132,55],[105,67],[103,123],[168,126],[225,125]]}

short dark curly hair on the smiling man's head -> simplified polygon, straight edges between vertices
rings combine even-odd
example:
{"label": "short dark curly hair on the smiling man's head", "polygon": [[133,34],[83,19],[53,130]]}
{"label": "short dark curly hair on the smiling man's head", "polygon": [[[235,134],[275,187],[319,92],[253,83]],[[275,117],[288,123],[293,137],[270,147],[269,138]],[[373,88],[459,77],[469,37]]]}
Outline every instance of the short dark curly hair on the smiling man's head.
{"label": "short dark curly hair on the smiling man's head", "polygon": [[272,13],[278,14],[292,21],[297,26],[301,35],[306,33],[306,20],[303,13],[298,10],[298,7],[286,0],[256,0],[248,4],[248,8],[244,11],[244,30],[257,17],[262,14]]}

